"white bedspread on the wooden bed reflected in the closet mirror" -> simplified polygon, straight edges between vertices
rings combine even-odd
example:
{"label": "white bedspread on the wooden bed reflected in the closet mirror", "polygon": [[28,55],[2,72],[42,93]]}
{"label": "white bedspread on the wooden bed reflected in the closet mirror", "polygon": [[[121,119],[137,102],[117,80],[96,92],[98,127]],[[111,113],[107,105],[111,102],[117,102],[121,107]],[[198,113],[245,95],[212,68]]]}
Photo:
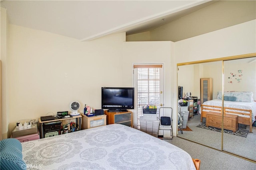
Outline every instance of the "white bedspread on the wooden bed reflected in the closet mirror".
{"label": "white bedspread on the wooden bed reflected in the closet mirror", "polygon": [[[206,101],[203,104],[204,105],[220,106],[221,107],[222,106],[222,100],[221,99],[213,99],[213,100]],[[252,123],[255,121],[256,102],[231,102],[231,101],[224,101],[224,107],[252,110]],[[206,108],[208,108],[208,107],[206,107]],[[199,111],[199,113],[201,114],[201,110]],[[246,115],[239,115],[239,116],[241,116],[241,117],[248,117]]]}

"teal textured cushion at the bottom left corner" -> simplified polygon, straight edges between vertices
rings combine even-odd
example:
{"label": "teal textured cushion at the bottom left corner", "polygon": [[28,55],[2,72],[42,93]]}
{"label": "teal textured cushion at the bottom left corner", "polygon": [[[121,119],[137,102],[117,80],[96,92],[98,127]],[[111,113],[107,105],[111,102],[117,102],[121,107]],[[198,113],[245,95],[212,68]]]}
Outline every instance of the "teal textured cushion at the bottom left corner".
{"label": "teal textured cushion at the bottom left corner", "polygon": [[0,141],[1,170],[26,170],[22,159],[22,146],[18,139],[8,138]]}

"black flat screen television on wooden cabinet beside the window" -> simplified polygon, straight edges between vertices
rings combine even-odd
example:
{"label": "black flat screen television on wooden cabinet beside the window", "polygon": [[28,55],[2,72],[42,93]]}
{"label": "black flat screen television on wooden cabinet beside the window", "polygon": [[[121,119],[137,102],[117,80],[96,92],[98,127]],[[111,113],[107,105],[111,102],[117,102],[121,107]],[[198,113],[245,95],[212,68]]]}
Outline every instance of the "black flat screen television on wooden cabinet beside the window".
{"label": "black flat screen television on wooden cabinet beside the window", "polygon": [[101,107],[108,111],[127,111],[134,109],[134,88],[102,87]]}

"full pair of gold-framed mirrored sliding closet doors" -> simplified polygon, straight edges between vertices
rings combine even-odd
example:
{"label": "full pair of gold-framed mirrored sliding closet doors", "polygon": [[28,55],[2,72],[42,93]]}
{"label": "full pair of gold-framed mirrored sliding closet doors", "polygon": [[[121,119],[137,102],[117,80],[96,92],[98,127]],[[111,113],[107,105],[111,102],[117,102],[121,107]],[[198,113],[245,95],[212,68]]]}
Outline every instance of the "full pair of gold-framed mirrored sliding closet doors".
{"label": "full pair of gold-framed mirrored sliding closet doors", "polygon": [[178,100],[183,124],[177,136],[256,161],[255,53],[181,63],[177,70],[184,98]]}

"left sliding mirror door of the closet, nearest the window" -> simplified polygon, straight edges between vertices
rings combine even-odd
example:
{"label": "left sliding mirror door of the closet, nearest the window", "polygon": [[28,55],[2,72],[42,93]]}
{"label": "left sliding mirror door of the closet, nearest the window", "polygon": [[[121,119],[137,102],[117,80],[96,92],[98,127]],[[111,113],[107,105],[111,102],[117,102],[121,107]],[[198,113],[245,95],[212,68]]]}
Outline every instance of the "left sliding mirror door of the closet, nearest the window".
{"label": "left sliding mirror door of the closet, nearest the window", "polygon": [[[210,114],[212,110],[202,113],[201,104],[216,99],[217,92],[222,91],[222,61],[178,66],[177,82],[182,87],[183,102],[187,102],[187,106],[179,104],[181,107],[178,107],[183,118],[178,137],[220,150],[221,131],[215,127],[222,125],[221,116]],[[219,102],[221,107],[221,100]],[[206,116],[211,122],[206,122]],[[216,124],[213,125],[212,121]],[[209,123],[215,127],[210,127]]]}

